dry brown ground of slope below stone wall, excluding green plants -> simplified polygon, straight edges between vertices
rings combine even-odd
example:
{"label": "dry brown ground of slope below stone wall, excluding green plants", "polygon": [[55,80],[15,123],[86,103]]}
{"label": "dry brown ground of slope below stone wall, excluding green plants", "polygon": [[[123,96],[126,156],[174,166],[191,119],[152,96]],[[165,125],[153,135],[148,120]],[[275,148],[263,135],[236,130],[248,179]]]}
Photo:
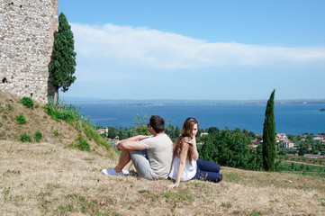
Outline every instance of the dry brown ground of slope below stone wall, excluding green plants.
{"label": "dry brown ground of slope below stone wall, excluding green plants", "polygon": [[[25,123],[20,124],[17,121],[19,115],[23,115]],[[79,130],[77,130],[76,120],[70,123],[62,120],[56,121],[46,112],[43,104],[34,102],[33,108],[28,108],[20,103],[19,97],[0,92],[0,140],[20,141],[23,135],[27,135],[32,142],[35,142],[36,131],[41,132],[40,141],[64,146],[76,146],[79,134],[81,134],[81,137],[86,139],[90,145],[91,150],[102,155],[116,156],[112,148],[105,148],[97,143],[98,139],[100,141],[104,141],[104,139],[98,136],[95,140],[89,135],[90,127],[86,124],[84,127],[79,126]],[[87,131],[88,134],[86,134]]]}

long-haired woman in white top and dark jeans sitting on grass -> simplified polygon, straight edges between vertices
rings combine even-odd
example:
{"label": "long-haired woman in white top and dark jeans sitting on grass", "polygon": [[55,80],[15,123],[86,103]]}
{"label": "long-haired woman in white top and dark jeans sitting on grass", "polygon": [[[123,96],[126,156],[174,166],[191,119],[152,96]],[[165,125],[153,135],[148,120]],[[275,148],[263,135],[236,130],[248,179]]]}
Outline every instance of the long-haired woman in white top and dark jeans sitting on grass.
{"label": "long-haired woman in white top and dark jeans sitting on grass", "polygon": [[176,180],[170,184],[169,189],[178,187],[180,181],[201,179],[212,182],[220,182],[222,175],[219,173],[221,167],[210,161],[199,158],[196,148],[195,135],[198,129],[198,121],[187,118],[184,121],[182,134],[174,143],[174,159],[169,177]]}

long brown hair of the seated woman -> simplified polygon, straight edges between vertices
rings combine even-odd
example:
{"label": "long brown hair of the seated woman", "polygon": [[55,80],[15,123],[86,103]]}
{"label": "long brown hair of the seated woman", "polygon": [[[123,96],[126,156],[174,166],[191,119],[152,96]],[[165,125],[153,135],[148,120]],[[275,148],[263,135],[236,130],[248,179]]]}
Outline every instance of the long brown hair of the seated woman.
{"label": "long brown hair of the seated woman", "polygon": [[[190,117],[190,118],[187,118],[184,123],[183,123],[183,129],[182,129],[182,132],[181,132],[181,135],[179,135],[179,137],[176,139],[176,142],[174,143],[174,147],[173,147],[173,153],[174,153],[174,156],[177,155],[177,152],[181,152],[182,151],[182,143],[183,143],[183,139],[185,137],[189,137],[191,138],[192,136],[192,131],[194,129],[194,125],[197,124],[197,127],[199,127],[199,122]],[[193,150],[193,147],[191,144],[189,144],[189,148],[188,148],[188,151],[187,151],[187,156],[186,156],[186,159],[189,161],[190,164],[192,164],[192,159],[194,157],[194,150]]]}

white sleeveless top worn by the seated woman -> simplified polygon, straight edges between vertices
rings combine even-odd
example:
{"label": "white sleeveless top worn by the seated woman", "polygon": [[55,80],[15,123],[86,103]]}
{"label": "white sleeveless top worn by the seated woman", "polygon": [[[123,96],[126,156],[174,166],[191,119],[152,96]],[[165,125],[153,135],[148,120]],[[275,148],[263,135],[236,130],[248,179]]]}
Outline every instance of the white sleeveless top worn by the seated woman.
{"label": "white sleeveless top worn by the seated woman", "polygon": [[[176,156],[173,158],[173,165],[172,169],[170,171],[169,177],[176,180],[177,172],[178,172],[178,166],[179,166],[179,157]],[[194,177],[196,174],[196,160],[192,159],[192,165],[190,162],[186,159],[185,162],[185,168],[183,175],[181,177],[181,181],[188,181]]]}

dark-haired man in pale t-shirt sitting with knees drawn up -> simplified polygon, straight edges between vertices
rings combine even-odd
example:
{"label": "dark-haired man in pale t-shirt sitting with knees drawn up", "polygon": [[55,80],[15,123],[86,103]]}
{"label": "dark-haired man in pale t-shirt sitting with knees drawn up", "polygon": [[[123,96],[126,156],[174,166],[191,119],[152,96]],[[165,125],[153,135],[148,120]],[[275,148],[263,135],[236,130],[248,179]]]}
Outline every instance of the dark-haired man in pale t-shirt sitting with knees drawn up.
{"label": "dark-haired man in pale t-shirt sitting with knees drawn up", "polygon": [[148,124],[152,136],[138,135],[115,143],[122,150],[119,163],[114,168],[103,169],[104,175],[124,175],[122,168],[130,160],[141,177],[149,180],[167,178],[173,160],[173,142],[165,133],[165,121],[151,116]]}

